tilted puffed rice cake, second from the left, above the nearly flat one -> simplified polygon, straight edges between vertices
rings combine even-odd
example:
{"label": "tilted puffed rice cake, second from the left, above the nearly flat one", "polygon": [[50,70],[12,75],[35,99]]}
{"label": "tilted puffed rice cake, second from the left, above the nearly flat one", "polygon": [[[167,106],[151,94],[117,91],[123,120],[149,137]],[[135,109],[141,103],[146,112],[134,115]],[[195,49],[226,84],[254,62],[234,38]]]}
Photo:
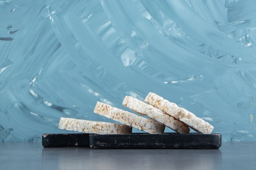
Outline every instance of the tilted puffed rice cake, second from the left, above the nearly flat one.
{"label": "tilted puffed rice cake, second from the left, above the nearly flat one", "polygon": [[144,132],[151,134],[164,133],[165,126],[163,124],[150,119],[146,119],[144,117],[140,117],[128,111],[112,107],[108,104],[97,102],[94,108],[94,113],[121,122],[127,126],[132,126],[133,128],[143,130]]}

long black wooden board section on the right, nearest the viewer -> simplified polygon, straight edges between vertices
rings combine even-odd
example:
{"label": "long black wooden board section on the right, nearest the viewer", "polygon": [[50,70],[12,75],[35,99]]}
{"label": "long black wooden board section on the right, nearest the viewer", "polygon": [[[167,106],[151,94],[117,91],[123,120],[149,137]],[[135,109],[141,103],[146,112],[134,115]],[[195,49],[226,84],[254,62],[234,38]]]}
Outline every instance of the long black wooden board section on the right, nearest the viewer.
{"label": "long black wooden board section on the right, nearest the viewer", "polygon": [[132,133],[90,135],[92,149],[218,149],[221,134]]}

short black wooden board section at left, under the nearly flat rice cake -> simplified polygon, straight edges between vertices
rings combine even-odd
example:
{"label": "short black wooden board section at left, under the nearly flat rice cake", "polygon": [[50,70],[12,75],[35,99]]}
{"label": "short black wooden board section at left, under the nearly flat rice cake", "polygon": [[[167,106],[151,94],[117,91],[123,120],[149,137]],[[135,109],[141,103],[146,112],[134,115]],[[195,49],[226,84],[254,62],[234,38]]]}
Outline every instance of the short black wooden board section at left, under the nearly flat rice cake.
{"label": "short black wooden board section at left, under the nearly flat rice cake", "polygon": [[45,148],[89,147],[88,133],[43,134],[42,145]]}

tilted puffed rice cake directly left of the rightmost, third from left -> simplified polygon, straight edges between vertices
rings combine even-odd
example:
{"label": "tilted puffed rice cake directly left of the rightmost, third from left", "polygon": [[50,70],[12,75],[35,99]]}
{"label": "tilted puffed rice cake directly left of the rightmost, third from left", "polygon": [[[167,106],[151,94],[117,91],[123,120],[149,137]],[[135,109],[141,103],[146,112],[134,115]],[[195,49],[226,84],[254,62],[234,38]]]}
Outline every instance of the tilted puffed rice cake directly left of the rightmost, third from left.
{"label": "tilted puffed rice cake directly left of the rightmost, third from left", "polygon": [[181,121],[171,117],[170,115],[164,113],[162,110],[142,102],[131,96],[124,97],[123,105],[135,111],[138,114],[146,115],[150,119],[158,121],[161,124],[171,128],[175,132],[185,134],[189,133],[189,127],[182,123]]}

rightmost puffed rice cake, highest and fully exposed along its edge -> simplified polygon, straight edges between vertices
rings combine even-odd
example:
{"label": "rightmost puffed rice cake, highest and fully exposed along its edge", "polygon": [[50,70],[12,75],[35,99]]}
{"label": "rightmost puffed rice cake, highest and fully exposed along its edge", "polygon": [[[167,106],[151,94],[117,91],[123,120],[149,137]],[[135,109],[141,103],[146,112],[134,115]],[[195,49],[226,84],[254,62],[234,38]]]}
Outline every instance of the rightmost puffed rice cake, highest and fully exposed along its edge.
{"label": "rightmost puffed rice cake, highest and fully exposed along its edge", "polygon": [[197,132],[211,134],[211,132],[213,131],[213,126],[211,126],[211,124],[209,124],[208,122],[204,121],[199,117],[196,117],[188,110],[180,108],[179,106],[177,106],[177,104],[169,102],[168,100],[155,93],[148,93],[144,101],[148,104],[151,104],[152,106],[155,106],[156,108],[159,108],[168,115],[182,121]]}

